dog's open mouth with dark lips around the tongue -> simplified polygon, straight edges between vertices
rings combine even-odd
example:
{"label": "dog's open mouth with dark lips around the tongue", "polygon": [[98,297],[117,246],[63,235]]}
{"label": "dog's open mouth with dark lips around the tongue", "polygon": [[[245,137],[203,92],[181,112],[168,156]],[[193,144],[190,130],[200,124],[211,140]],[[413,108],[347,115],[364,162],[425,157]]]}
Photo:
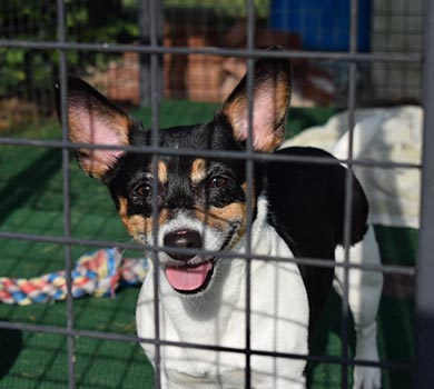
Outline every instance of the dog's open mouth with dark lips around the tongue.
{"label": "dog's open mouth with dark lips around the tongue", "polygon": [[170,286],[181,293],[197,293],[205,290],[214,273],[214,261],[197,266],[166,267]]}

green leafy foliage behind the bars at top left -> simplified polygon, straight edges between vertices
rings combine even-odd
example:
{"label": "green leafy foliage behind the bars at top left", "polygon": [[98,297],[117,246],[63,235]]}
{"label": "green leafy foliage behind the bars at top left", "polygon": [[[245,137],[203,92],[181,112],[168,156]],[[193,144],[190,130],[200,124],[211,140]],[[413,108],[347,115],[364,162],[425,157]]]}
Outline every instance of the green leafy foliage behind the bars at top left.
{"label": "green leafy foliage behind the bars at top left", "polygon": [[[139,36],[137,1],[65,0],[65,4],[68,41],[130,42]],[[0,39],[56,41],[57,24],[56,1],[0,1]],[[76,73],[86,71],[88,66],[105,66],[108,57],[88,51],[68,51],[68,71]],[[57,50],[0,48],[0,98],[20,96],[29,99],[52,94],[59,68]],[[40,108],[43,110],[43,107]]]}

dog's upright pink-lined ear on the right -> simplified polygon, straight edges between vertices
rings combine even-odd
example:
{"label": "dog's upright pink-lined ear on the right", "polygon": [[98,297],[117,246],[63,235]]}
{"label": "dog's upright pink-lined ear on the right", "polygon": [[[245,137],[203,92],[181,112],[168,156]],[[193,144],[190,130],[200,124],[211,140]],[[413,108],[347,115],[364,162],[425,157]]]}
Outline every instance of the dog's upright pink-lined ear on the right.
{"label": "dog's upright pink-lined ear on the right", "polygon": [[[290,63],[287,59],[259,59],[254,68],[253,144],[257,151],[273,151],[285,137],[290,101]],[[223,106],[235,138],[248,136],[247,76]]]}

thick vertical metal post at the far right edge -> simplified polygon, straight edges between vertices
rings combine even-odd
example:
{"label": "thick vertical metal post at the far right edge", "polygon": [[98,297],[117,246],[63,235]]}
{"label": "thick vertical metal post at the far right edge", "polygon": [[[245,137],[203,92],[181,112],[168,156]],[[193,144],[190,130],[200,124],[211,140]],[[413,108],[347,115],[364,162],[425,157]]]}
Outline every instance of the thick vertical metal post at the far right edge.
{"label": "thick vertical metal post at the far right edge", "polygon": [[421,229],[416,279],[416,388],[434,387],[434,4],[426,1]]}

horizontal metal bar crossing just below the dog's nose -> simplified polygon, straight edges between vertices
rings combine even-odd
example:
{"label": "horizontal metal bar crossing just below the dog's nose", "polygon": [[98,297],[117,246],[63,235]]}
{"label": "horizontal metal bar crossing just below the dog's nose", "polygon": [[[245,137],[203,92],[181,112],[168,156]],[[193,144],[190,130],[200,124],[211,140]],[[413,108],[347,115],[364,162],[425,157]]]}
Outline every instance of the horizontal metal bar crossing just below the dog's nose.
{"label": "horizontal metal bar crossing just below the dog's nose", "polygon": [[[67,238],[67,237],[52,237],[52,236],[39,236],[39,235],[29,235],[21,232],[4,232],[0,231],[0,239],[16,239],[16,240],[28,240],[33,242],[43,242],[43,243],[56,243],[56,245],[77,245],[77,246],[89,246],[89,247],[118,247],[120,249],[132,249],[140,251],[166,251],[166,252],[177,252],[177,253],[196,253],[201,256],[215,256],[216,251],[210,250],[196,250],[196,249],[179,249],[179,248],[169,248],[169,247],[154,247],[149,245],[132,245],[132,243],[121,243],[114,241],[105,240],[88,240],[88,239],[78,239],[78,238]],[[234,251],[218,251],[219,258],[229,258],[229,259],[249,259],[249,260],[273,260],[276,262],[293,262],[307,265],[312,267],[320,268],[347,268],[347,269],[359,269],[364,271],[381,271],[383,273],[394,273],[403,276],[415,276],[414,267],[405,266],[394,266],[394,265],[363,265],[363,263],[351,263],[351,262],[335,262],[332,260],[317,259],[317,258],[287,258],[287,257],[270,257],[263,255],[247,255]]]}

